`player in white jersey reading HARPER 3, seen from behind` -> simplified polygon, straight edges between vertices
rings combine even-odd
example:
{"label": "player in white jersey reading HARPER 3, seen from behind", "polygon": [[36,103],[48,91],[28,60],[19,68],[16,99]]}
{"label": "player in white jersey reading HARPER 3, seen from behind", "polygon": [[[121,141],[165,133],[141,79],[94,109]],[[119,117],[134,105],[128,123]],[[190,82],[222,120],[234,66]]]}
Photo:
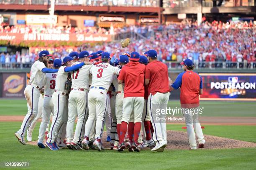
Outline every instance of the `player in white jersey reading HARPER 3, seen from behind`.
{"label": "player in white jersey reading HARPER 3, seen from behind", "polygon": [[109,64],[110,54],[108,52],[102,53],[101,61],[101,64],[92,66],[90,70],[92,74],[92,85],[88,94],[89,116],[85,124],[84,140],[82,141],[83,148],[88,149],[89,134],[96,118],[96,140],[93,145],[99,151],[101,151],[101,136],[108,104],[107,92],[113,81],[113,75],[118,75],[120,72],[118,67],[113,67]]}

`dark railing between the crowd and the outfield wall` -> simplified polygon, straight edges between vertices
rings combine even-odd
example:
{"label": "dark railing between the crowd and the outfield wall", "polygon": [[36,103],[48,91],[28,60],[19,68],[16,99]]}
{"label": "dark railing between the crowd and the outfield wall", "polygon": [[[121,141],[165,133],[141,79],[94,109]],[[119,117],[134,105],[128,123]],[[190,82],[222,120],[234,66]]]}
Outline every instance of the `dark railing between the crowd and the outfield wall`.
{"label": "dark railing between the crowd and the outfield wall", "polygon": [[[181,68],[180,62],[177,61],[164,61],[164,63],[168,66],[169,70],[179,69]],[[1,63],[0,64],[0,70],[22,70],[22,69],[28,69],[31,67],[33,62],[28,63]],[[248,62],[247,66],[244,67],[243,62],[222,62],[222,61],[215,61],[215,62],[205,62],[201,61],[196,64],[195,67],[197,69],[248,69],[252,70],[256,68],[256,62]]]}

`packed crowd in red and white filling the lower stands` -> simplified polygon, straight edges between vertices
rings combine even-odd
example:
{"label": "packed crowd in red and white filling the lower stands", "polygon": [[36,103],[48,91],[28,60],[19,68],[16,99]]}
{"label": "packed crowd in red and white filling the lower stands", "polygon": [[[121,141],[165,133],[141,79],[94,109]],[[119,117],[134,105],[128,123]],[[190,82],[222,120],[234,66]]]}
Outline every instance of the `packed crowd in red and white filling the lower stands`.
{"label": "packed crowd in red and white filling the lower stands", "polygon": [[[99,28],[100,29],[100,28]],[[204,22],[200,26],[196,23],[186,22],[170,25],[131,26],[117,28],[115,32],[137,32],[144,38],[132,40],[131,44],[116,52],[118,57],[121,52],[137,51],[141,55],[149,50],[156,49],[159,60],[163,62],[182,60],[189,58],[197,67],[237,67],[237,63],[243,63],[242,67],[255,67],[256,56],[256,27],[250,22],[222,23],[214,21]],[[86,44],[81,47],[57,47],[48,48],[54,58],[63,58],[71,51],[88,50],[95,52],[118,48],[119,42],[103,43],[102,45]],[[33,48],[30,53],[4,54],[0,56],[2,66],[10,67],[12,63],[28,63],[37,59],[37,53],[43,48]],[[240,67],[240,66],[239,66]]]}

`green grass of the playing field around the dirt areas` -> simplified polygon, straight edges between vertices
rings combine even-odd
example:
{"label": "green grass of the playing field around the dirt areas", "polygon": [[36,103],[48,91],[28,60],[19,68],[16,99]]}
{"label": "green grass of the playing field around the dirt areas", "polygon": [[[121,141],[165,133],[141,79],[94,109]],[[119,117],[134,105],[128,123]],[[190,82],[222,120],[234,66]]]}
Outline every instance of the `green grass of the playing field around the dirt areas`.
{"label": "green grass of the playing field around the dirt areas", "polygon": [[[170,105],[172,102],[170,101]],[[202,102],[201,102],[202,103]],[[206,116],[255,116],[253,102],[204,102],[209,107]],[[224,106],[226,105],[226,106]],[[14,107],[15,106],[15,107]],[[227,108],[223,112],[220,108]],[[234,110],[234,114],[230,113]],[[236,110],[236,112],[235,112]],[[246,112],[244,111],[246,110]],[[217,113],[216,113],[217,112]],[[0,100],[0,115],[25,115],[25,100]],[[213,114],[213,115],[212,115]],[[239,149],[202,149],[202,150],[165,150],[164,153],[152,153],[142,150],[140,153],[118,153],[116,151],[94,150],[71,151],[61,149],[51,151],[37,146],[21,145],[14,137],[21,122],[0,122],[0,169],[4,162],[29,162],[28,169],[156,169],[156,170],[251,170],[256,169],[256,148]],[[33,140],[37,139],[37,123]],[[167,125],[168,130],[182,130],[184,125]],[[256,126],[205,125],[204,134],[225,138],[256,142]],[[15,168],[6,168],[15,169]],[[20,168],[16,168],[20,169]]]}

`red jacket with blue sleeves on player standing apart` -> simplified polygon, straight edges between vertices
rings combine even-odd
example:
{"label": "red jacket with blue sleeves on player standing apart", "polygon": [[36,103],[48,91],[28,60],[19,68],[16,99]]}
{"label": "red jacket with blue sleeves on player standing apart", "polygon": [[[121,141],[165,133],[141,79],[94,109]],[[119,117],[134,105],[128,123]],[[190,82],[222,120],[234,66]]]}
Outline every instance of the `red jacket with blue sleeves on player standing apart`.
{"label": "red jacket with blue sleeves on player standing apart", "polygon": [[185,71],[178,75],[172,84],[174,89],[180,87],[180,103],[184,108],[199,106],[199,91],[202,89],[202,78],[196,72]]}

